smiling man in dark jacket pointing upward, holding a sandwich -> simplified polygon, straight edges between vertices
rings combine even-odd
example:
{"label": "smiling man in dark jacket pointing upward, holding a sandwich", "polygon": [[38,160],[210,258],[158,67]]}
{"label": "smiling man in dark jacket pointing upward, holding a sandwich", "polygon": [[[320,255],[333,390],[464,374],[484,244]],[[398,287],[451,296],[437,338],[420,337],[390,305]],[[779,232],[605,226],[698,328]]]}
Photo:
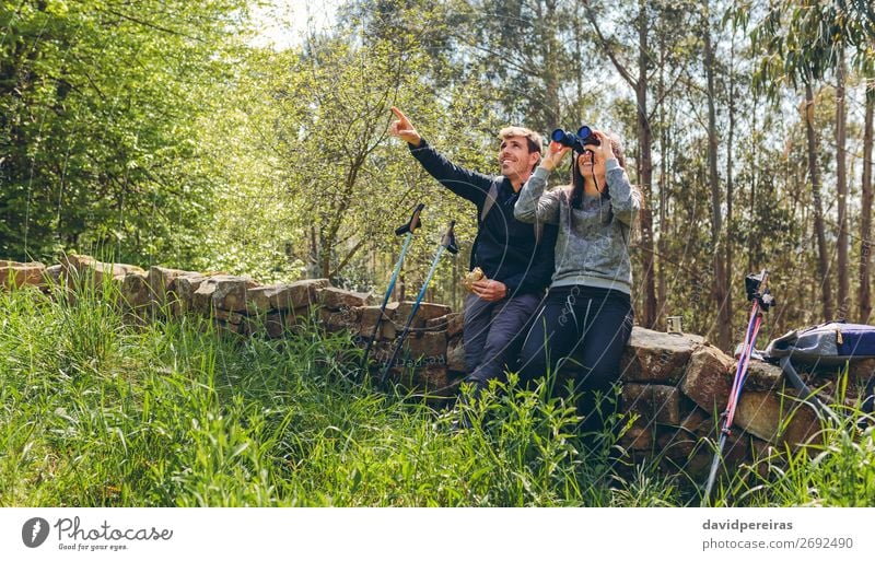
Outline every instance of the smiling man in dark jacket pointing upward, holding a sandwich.
{"label": "smiling man in dark jacket pointing upward, holding a sandwich", "polygon": [[557,227],[524,223],[513,215],[520,190],[540,162],[537,132],[508,127],[499,132],[501,175],[465,170],[444,157],[417,132],[398,108],[389,132],[408,143],[410,153],[429,174],[454,194],[477,206],[477,237],[470,269],[485,279],[472,284],[465,300],[466,381],[475,395],[490,379],[515,367],[527,322],[535,315],[553,272]]}

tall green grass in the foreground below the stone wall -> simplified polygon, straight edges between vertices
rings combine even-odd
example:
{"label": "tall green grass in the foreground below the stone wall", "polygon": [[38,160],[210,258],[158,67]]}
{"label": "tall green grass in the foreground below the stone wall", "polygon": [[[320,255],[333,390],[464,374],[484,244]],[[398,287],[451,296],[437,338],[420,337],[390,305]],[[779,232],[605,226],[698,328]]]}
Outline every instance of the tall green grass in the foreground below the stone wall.
{"label": "tall green grass in the foreground below the stone wall", "polygon": [[[649,464],[620,477],[616,435],[584,446],[573,401],[544,386],[493,388],[454,433],[421,397],[353,382],[342,334],[137,326],[110,284],[86,285],[0,292],[0,505],[698,504]],[[875,504],[871,430],[828,442],[739,470],[718,504]]]}

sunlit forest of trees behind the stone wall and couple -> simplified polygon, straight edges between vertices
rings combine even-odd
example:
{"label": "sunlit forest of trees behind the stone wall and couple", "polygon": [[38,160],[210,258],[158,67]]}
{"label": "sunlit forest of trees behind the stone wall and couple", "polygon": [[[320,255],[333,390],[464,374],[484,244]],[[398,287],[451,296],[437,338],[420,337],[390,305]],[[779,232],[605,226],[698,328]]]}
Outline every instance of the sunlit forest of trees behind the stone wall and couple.
{"label": "sunlit forest of trees behind the stone wall and couple", "polygon": [[680,315],[730,349],[744,276],[762,268],[780,303],[768,335],[867,323],[873,10],[352,0],[280,47],[262,40],[265,14],[283,16],[270,2],[0,0],[0,258],[97,250],[382,293],[393,230],[421,201],[397,296],[419,290],[457,220],[460,255],[428,297],[459,309],[475,210],[388,137],[396,105],[485,173],[508,124],[625,139],[646,199],[632,241],[642,326]]}

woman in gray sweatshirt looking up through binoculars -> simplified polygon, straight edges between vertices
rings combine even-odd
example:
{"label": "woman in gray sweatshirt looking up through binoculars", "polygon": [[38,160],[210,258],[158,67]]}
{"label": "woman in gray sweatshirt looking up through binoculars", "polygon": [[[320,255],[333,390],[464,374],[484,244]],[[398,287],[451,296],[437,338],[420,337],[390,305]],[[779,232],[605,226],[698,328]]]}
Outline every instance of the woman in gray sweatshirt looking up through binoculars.
{"label": "woman in gray sweatshirt looking up through binoculars", "polygon": [[514,207],[520,221],[559,225],[556,272],[523,344],[521,376],[573,370],[586,432],[602,426],[596,397],[619,378],[632,332],[629,238],[642,203],[618,140],[593,136],[598,145],[573,152],[571,185],[545,192],[547,176],[572,151],[551,142]]}

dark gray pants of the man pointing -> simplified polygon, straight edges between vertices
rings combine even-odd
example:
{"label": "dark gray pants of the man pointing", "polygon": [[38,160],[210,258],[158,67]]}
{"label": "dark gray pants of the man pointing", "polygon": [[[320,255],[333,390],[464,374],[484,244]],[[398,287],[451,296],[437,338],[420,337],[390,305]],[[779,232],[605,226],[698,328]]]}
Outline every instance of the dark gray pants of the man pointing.
{"label": "dark gray pants of the man pointing", "polygon": [[475,294],[465,299],[465,365],[468,382],[485,387],[516,364],[525,327],[541,303],[540,294],[521,294],[487,302]]}

